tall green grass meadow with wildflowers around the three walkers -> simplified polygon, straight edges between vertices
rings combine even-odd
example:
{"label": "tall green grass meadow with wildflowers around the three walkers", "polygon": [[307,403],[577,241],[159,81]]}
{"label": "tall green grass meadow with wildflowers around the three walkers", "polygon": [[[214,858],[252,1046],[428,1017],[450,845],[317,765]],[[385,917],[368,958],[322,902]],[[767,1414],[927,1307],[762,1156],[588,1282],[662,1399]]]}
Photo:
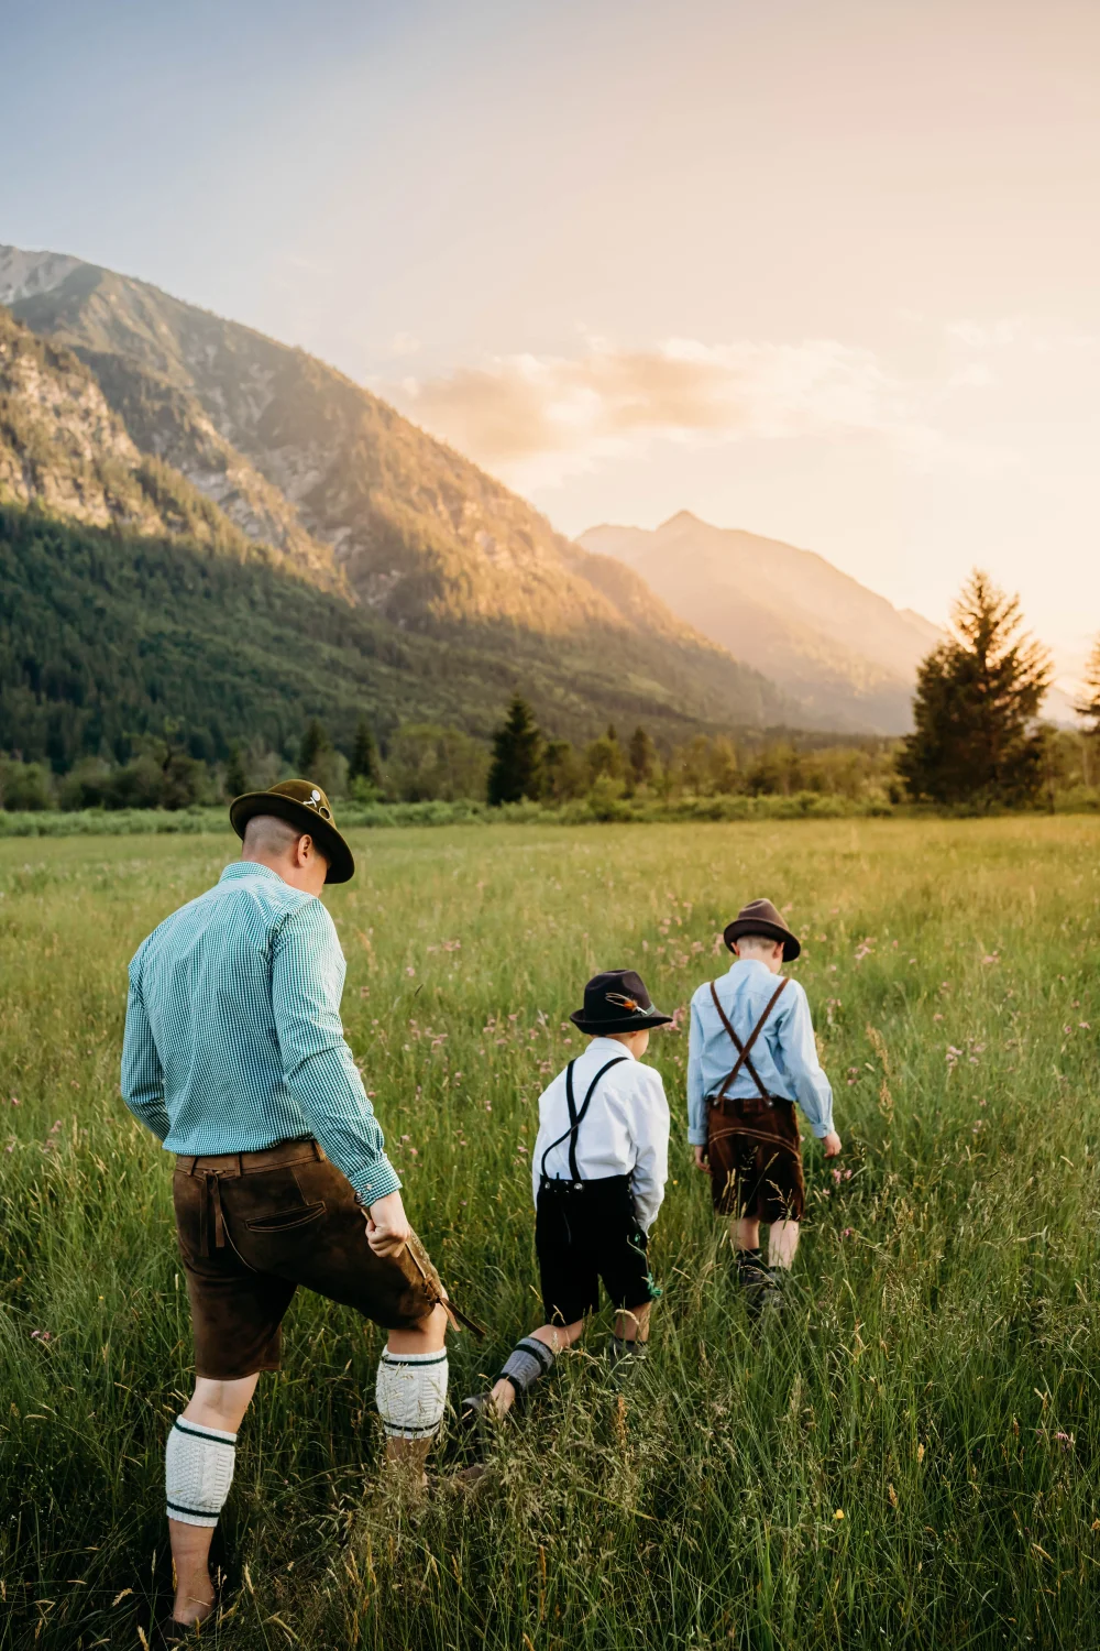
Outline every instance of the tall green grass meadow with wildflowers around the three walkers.
{"label": "tall green grass meadow with wildflowers around the three walkers", "polygon": [[[688,1167],[653,1355],[562,1359],[470,1496],[379,1491],[379,1334],[300,1296],[224,1519],[231,1648],[1095,1646],[1100,822],[358,834],[345,1020],[455,1298],[452,1397],[538,1319],[528,1149],[597,967],[661,1005],[772,895],[849,1180],[806,1146],[797,1308],[760,1344]],[[0,844],[0,1646],[140,1646],[190,1382],[168,1161],[117,1096],[125,963],[219,837]],[[445,1469],[449,1448],[440,1453]],[[206,1639],[203,1641],[206,1643]],[[211,1639],[211,1643],[214,1643]]]}

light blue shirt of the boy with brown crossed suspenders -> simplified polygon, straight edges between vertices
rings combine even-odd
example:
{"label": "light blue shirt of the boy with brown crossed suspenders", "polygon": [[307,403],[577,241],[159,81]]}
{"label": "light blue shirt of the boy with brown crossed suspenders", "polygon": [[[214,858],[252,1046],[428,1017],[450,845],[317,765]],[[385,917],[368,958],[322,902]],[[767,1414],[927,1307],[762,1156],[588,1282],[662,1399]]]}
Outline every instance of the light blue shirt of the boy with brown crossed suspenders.
{"label": "light blue shirt of the boy with brown crossed suspenders", "polygon": [[[759,958],[737,959],[727,974],[716,981],[717,997],[729,1024],[742,1043],[767,1009],[778,986],[778,977]],[[691,1037],[688,1040],[688,1141],[706,1146],[706,1103],[717,1095],[737,1060],[737,1050],[722,1025],[711,987],[701,986],[691,999]],[[833,1090],[821,1071],[810,1002],[798,981],[790,981],[783,996],[769,1015],[764,1032],[752,1045],[752,1065],[760,1073],[760,1083],[785,1101],[798,1101],[818,1139],[833,1128]],[[749,1071],[742,1065],[731,1085],[729,1095],[759,1095]]]}

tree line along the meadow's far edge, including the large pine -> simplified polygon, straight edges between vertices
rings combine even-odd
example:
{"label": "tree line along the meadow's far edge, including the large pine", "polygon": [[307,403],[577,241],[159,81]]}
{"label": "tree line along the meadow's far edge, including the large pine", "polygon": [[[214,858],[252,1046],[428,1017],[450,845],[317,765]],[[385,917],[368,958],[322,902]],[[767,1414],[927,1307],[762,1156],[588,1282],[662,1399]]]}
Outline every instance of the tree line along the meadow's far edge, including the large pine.
{"label": "tree line along the meadow's far edge, including the large pine", "polygon": [[529,801],[556,807],[592,799],[714,796],[839,796],[854,802],[930,802],[948,807],[1034,807],[1100,784],[1100,639],[1080,702],[1082,733],[1039,720],[1051,684],[1047,652],[1024,631],[1019,601],[976,571],[963,588],[945,641],[924,660],[914,731],[904,740],[783,735],[704,735],[660,745],[643,725],[613,725],[587,743],[548,736],[515,693],[491,746],[455,726],[401,725],[379,736],[361,715],[341,748],[310,718],[297,750],[262,738],[231,745],[223,763],[196,756],[185,730],[165,721],[135,738],[127,761],[87,756],[68,773],[0,756],[5,809],[180,809],[308,774],[336,801]]}

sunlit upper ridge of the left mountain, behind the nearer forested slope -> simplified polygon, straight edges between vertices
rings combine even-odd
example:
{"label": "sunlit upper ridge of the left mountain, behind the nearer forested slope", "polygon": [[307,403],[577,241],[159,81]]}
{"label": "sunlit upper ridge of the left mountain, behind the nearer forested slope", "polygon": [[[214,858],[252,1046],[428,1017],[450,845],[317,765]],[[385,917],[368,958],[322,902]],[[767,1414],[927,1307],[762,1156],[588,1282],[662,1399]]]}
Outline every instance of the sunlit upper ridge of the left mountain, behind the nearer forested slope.
{"label": "sunlit upper ridge of the left mountain, behind the nearer forested slope", "polygon": [[511,664],[538,682],[548,726],[567,731],[585,700],[590,725],[805,720],[638,575],[305,352],[54,253],[0,248],[0,302],[79,357],[140,456],[287,571]]}

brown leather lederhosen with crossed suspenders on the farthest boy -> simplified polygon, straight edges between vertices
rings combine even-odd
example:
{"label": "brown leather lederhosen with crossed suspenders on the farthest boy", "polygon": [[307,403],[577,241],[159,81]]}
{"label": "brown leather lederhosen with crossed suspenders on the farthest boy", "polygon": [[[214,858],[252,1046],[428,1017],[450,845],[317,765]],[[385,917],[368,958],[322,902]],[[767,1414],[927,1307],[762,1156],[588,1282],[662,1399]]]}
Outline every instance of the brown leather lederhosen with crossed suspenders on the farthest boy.
{"label": "brown leather lederhosen with crossed suspenders on the farthest boy", "polygon": [[[795,1103],[769,1095],[752,1063],[752,1047],[787,987],[782,979],[764,1014],[742,1043],[722,1009],[714,981],[711,997],[726,1027],[737,1060],[717,1095],[707,1103],[707,1164],[711,1197],[722,1215],[742,1215],[762,1222],[801,1220],[805,1182]],[[757,1086],[757,1095],[729,1095],[742,1068]]]}

